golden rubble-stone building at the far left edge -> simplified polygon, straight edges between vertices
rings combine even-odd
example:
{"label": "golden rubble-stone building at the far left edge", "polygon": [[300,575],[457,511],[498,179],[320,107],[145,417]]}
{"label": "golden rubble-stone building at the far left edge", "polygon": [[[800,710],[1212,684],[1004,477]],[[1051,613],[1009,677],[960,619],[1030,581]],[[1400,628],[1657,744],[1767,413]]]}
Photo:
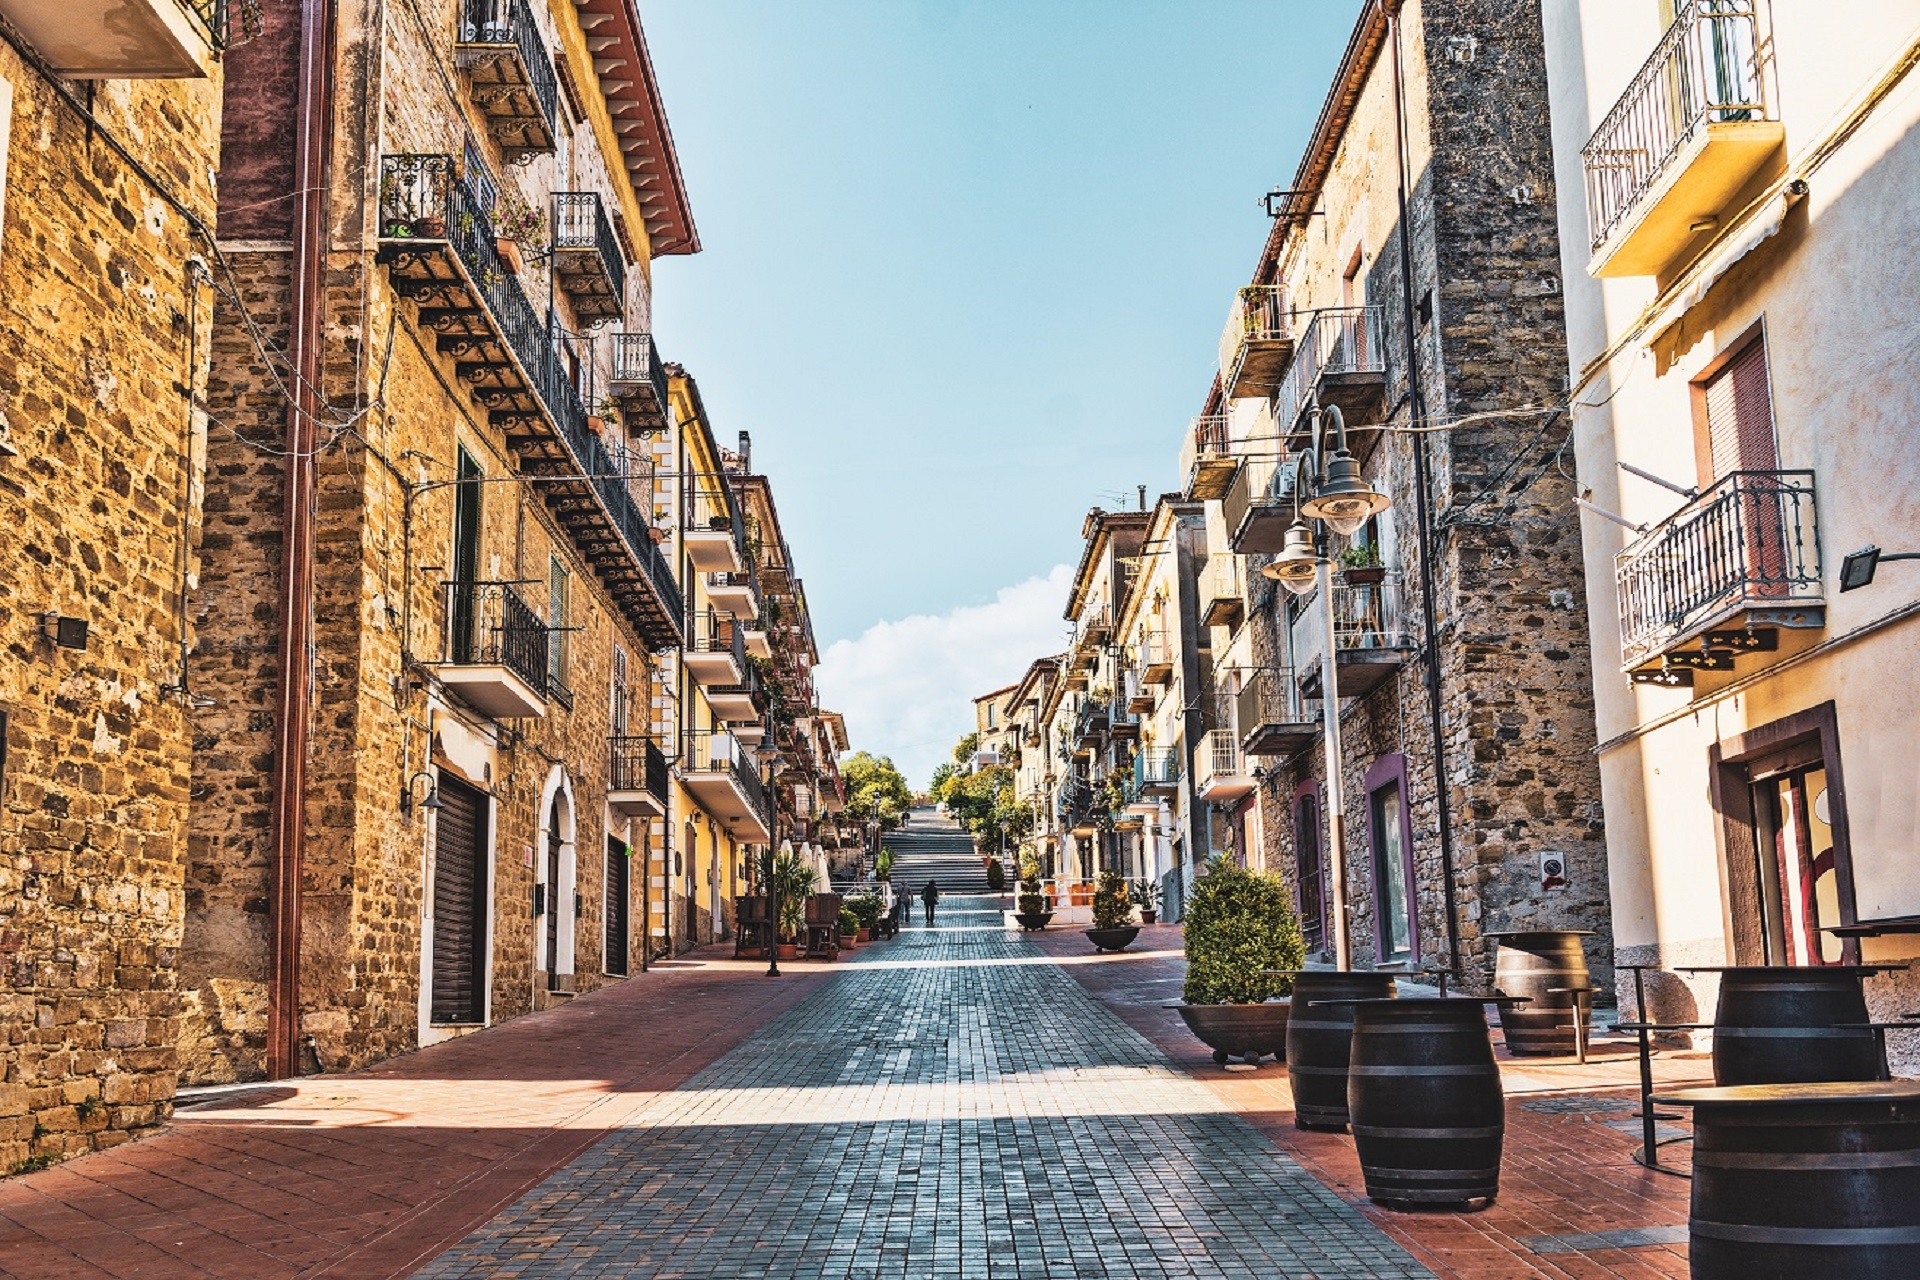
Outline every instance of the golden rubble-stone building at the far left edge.
{"label": "golden rubble-stone building at the far left edge", "polygon": [[223,23],[0,6],[0,1174],[167,1117]]}

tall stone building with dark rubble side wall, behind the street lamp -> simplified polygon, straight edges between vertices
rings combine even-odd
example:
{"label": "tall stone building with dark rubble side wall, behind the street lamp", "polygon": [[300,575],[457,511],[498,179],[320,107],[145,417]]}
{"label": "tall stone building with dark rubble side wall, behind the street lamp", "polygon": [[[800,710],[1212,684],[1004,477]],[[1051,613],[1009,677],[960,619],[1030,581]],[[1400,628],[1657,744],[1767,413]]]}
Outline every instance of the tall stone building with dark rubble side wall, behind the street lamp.
{"label": "tall stone building with dark rubble side wall, behind the street lamp", "polygon": [[[1244,752],[1219,760],[1244,771],[1210,789],[1221,837],[1294,881],[1317,946],[1334,896],[1329,603],[1260,570],[1294,522],[1317,407],[1359,428],[1354,455],[1392,497],[1332,539],[1344,889],[1363,965],[1484,979],[1488,931],[1578,927],[1597,931],[1590,960],[1607,973],[1586,585],[1557,466],[1546,106],[1536,0],[1369,2],[1290,186],[1269,198],[1271,234],[1183,455],[1213,555],[1240,557],[1210,572],[1202,604],[1219,722]],[[1394,430],[1411,426],[1427,430]]]}

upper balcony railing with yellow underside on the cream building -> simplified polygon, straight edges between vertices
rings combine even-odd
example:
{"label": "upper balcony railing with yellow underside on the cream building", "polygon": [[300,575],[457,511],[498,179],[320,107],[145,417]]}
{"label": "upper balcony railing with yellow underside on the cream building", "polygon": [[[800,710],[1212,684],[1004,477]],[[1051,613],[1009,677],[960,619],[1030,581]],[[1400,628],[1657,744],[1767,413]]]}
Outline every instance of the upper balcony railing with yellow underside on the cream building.
{"label": "upper balcony railing with yellow underside on the cream building", "polygon": [[1768,117],[1755,4],[1680,0],[1674,8],[1672,27],[1580,150],[1596,251],[1703,127]]}

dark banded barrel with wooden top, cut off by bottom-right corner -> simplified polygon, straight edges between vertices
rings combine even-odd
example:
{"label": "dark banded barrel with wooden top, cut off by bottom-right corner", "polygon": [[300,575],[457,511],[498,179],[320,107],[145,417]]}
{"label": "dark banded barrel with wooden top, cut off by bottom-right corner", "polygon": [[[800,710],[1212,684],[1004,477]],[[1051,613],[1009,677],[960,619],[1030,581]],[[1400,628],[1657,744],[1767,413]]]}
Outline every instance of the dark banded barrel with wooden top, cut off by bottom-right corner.
{"label": "dark banded barrel with wooden top, cut off by bottom-right corner", "polygon": [[1920,1274],[1920,1082],[1743,1084],[1693,1107],[1693,1280]]}

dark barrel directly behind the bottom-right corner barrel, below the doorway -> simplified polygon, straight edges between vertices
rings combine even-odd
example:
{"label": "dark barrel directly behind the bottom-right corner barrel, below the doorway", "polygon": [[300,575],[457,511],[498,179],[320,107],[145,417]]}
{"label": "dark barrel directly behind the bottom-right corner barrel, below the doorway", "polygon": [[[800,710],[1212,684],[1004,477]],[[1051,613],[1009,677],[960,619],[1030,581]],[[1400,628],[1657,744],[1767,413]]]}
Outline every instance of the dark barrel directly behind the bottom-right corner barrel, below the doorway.
{"label": "dark barrel directly behind the bottom-right corner barrel, below the doorway", "polygon": [[1713,1082],[1878,1080],[1884,1063],[1866,1027],[1860,973],[1851,965],[1722,969]]}

